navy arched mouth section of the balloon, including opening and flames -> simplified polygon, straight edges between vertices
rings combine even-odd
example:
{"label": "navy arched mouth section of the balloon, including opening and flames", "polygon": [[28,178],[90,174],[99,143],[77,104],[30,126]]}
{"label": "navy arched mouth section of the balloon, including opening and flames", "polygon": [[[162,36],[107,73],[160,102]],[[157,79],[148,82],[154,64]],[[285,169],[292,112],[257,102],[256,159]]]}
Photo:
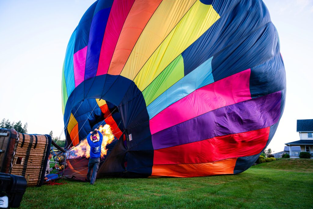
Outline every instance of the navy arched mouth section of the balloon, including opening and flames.
{"label": "navy arched mouth section of the balloon, including opening and flames", "polygon": [[[107,76],[110,79],[105,79]],[[84,91],[86,89],[89,89],[88,93]],[[100,90],[103,90],[101,95],[104,96],[100,95]],[[69,126],[66,131],[68,151],[83,143],[90,131],[100,125],[108,125],[113,140],[106,145],[107,152],[100,159],[98,174],[100,177],[136,176],[136,172],[133,172],[137,169],[134,156],[141,156],[141,153],[137,152],[138,148],[144,146],[145,150],[153,150],[146,102],[136,84],[123,76],[96,76],[77,86],[66,104],[65,124],[70,116],[77,122],[76,125],[68,123],[72,127],[76,126],[76,131],[73,132],[74,128]],[[81,155],[69,157],[69,155],[70,153],[67,154],[68,166],[64,175],[84,180],[82,178],[85,178],[88,171],[87,154],[82,157]],[[145,163],[151,165],[152,162],[153,153],[148,151]],[[151,166],[144,170],[146,176],[151,174]]]}

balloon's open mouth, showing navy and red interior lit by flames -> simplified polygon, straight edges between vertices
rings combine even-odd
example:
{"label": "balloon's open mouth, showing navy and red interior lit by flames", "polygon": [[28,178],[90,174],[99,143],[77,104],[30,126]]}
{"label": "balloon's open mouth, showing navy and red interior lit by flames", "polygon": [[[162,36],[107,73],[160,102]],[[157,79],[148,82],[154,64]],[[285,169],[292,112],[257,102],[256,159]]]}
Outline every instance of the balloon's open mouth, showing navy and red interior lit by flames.
{"label": "balloon's open mouth, showing navy and red interior lit by flames", "polygon": [[[90,111],[86,112],[86,109]],[[124,132],[118,107],[103,99],[89,98],[75,105],[73,111],[73,115],[75,113],[74,117],[76,116],[75,119],[78,123],[77,130],[72,129],[69,134],[71,142],[67,146],[68,160],[90,158],[90,146],[86,136],[92,131],[90,141],[99,141],[99,133],[94,131],[95,128],[102,133],[103,140],[100,148],[100,158],[105,160]],[[81,121],[80,117],[87,119]],[[69,121],[70,123],[71,121]]]}

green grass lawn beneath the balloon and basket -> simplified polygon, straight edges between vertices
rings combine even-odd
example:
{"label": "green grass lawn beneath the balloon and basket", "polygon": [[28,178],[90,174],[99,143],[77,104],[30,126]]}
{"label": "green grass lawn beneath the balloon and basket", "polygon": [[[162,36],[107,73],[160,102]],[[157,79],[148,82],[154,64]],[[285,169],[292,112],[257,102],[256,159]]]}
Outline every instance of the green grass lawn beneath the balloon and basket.
{"label": "green grass lawn beneath the balloon and basket", "polygon": [[103,178],[29,187],[21,208],[313,208],[313,159],[279,159],[237,175]]}

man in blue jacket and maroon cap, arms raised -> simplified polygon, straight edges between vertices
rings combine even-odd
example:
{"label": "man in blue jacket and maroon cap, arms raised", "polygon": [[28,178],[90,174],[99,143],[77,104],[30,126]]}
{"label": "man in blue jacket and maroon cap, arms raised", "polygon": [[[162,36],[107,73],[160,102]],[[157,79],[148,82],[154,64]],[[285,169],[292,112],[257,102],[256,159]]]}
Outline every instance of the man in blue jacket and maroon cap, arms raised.
{"label": "man in blue jacket and maroon cap, arms raised", "polygon": [[[96,136],[97,132],[99,134],[99,138]],[[95,129],[95,131],[91,131],[87,136],[87,142],[90,146],[90,158],[88,163],[87,181],[90,181],[90,184],[94,184],[96,180],[100,164],[102,139],[103,139],[102,133],[97,128]],[[90,179],[91,170],[93,171]]]}

